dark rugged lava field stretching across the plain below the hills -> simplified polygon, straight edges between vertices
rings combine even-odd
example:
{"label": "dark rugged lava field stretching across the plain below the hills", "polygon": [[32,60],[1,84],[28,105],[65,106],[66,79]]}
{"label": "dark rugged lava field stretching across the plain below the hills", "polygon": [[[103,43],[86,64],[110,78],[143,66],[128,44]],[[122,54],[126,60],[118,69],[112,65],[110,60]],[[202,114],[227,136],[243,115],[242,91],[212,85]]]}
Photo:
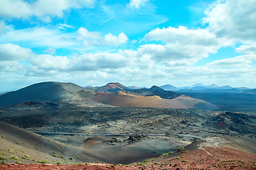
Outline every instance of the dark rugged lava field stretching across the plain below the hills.
{"label": "dark rugged lava field stretching across the plain below the hills", "polygon": [[4,108],[0,120],[78,147],[88,137],[100,136],[106,139],[101,144],[104,146],[144,142],[155,154],[183,147],[203,137],[254,138],[256,134],[254,112],[54,106],[48,103]]}

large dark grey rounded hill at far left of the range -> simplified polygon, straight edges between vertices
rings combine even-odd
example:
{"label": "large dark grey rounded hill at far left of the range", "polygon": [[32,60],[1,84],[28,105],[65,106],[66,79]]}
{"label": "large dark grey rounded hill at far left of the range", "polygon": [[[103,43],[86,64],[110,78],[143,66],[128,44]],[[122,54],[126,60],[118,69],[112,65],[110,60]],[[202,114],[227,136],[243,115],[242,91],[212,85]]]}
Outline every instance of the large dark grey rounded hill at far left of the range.
{"label": "large dark grey rounded hill at far left of the range", "polygon": [[0,106],[14,106],[26,102],[43,103],[71,100],[76,93],[80,92],[78,96],[81,95],[81,91],[86,91],[86,89],[73,83],[43,82],[1,95]]}

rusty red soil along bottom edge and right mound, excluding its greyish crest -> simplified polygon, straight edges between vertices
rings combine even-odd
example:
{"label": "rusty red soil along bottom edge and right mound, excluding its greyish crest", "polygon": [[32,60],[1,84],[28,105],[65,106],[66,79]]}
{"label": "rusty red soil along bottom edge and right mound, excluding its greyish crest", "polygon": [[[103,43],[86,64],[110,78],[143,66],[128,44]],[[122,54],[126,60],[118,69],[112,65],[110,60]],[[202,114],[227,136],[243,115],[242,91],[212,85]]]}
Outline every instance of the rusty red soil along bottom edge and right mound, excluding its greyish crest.
{"label": "rusty red soil along bottom edge and right mound, excluding its greyish crest", "polygon": [[[180,159],[176,159],[180,158]],[[196,150],[183,149],[166,158],[155,159],[144,165],[130,164],[0,164],[2,169],[256,169],[256,155],[238,149],[212,147]]]}

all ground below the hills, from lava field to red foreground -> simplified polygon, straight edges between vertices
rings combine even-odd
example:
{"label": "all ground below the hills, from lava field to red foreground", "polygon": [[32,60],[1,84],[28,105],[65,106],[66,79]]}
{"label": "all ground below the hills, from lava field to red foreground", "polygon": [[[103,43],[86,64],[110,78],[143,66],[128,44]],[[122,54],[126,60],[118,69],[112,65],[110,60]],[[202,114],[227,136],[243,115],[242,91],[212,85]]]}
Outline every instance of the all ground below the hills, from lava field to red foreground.
{"label": "all ground below the hills, from lava field to red foreground", "polygon": [[[254,114],[129,107],[4,108],[0,120],[26,130],[14,126],[10,130],[1,123],[0,154],[5,152],[9,160],[0,169],[255,169]],[[216,135],[220,140],[212,137]],[[12,154],[26,164],[14,164]],[[31,159],[23,159],[23,154]],[[41,159],[50,164],[37,164]],[[53,165],[59,161],[67,165]]]}

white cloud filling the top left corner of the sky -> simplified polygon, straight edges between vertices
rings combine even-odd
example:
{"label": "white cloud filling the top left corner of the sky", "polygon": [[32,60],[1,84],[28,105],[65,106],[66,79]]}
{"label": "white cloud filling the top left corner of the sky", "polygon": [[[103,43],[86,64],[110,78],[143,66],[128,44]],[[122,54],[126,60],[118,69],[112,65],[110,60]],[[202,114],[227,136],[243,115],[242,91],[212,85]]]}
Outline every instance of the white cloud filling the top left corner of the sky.
{"label": "white cloud filling the top left corner of the sky", "polygon": [[94,0],[1,0],[0,17],[30,18],[36,16],[42,21],[49,22],[50,17],[63,17],[63,11],[69,8],[92,7]]}

